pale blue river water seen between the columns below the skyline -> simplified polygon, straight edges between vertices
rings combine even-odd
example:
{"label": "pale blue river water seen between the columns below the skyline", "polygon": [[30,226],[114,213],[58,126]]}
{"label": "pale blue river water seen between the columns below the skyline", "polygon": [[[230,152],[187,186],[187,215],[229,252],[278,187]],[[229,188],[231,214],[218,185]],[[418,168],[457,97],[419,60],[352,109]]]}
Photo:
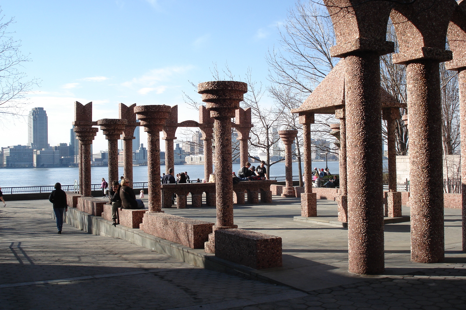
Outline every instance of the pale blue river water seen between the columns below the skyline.
{"label": "pale blue river water seen between the columns below the skyline", "polygon": [[[385,163],[385,162],[384,162]],[[255,164],[257,165],[257,163]],[[303,167],[303,164],[302,164]],[[314,161],[312,167],[325,168],[325,161]],[[233,171],[237,172],[240,164],[233,164]],[[329,169],[332,173],[338,173],[338,162],[329,161]],[[165,166],[160,166],[160,171],[165,171]],[[175,165],[175,174],[188,172],[191,180],[204,178],[204,165]],[[304,171],[304,167],[303,167]],[[120,176],[123,175],[123,167],[118,168]],[[280,162],[272,165],[269,176],[279,177],[285,175],[285,163]],[[293,175],[298,175],[298,163],[293,163]],[[92,184],[102,183],[102,178],[107,180],[108,167],[91,168]],[[147,182],[147,166],[133,167],[133,182]],[[62,185],[72,185],[78,179],[77,167],[62,168],[3,168],[0,169],[1,187],[19,186],[47,186],[60,182]],[[109,181],[109,180],[107,180]],[[109,182],[110,183],[110,182]]]}

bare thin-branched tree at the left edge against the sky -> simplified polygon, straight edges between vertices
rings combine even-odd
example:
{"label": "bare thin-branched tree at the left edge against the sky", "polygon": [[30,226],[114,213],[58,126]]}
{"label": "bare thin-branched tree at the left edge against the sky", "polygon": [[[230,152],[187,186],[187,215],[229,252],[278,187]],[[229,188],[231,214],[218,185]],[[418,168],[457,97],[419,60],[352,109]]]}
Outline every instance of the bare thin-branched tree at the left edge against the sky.
{"label": "bare thin-branched tree at the left edge against the sky", "polygon": [[27,92],[38,83],[21,71],[23,64],[31,60],[21,54],[21,41],[14,40],[13,33],[7,31],[12,23],[13,18],[5,21],[5,15],[0,17],[0,119],[21,115]]}

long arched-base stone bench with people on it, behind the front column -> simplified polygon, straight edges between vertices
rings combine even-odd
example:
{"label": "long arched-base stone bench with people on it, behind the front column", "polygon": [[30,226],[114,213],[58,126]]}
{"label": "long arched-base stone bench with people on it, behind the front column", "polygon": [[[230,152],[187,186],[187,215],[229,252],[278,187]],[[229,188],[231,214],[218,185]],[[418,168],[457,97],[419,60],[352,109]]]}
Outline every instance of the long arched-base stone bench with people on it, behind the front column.
{"label": "long arched-base stone bench with people on it, behind the front column", "polygon": [[[233,185],[233,202],[238,204],[245,203],[245,192],[247,193],[248,203],[257,204],[272,202],[272,192],[270,186],[276,184],[275,180],[265,181],[241,181]],[[185,183],[185,184],[162,184],[162,207],[171,208],[171,197],[173,194],[177,197],[177,208],[186,207],[186,197],[191,194],[192,207],[202,206],[202,194],[206,193],[206,205],[215,206],[215,183]]]}

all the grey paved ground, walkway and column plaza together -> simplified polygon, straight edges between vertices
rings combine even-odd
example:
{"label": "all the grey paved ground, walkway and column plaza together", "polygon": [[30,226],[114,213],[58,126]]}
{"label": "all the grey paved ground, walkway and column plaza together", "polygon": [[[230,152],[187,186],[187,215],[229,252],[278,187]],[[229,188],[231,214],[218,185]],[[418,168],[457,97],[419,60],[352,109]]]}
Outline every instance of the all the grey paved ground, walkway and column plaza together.
{"label": "all the grey paved ground, walkway and column plaza together", "polygon": [[[215,208],[164,209],[215,222]],[[318,201],[319,215],[336,204]],[[0,209],[0,309],[466,309],[461,212],[445,209],[445,262],[409,261],[409,223],[385,225],[385,275],[349,274],[347,230],[293,220],[298,199],[235,205],[235,224],[283,240],[284,285],[243,279],[64,224],[48,200]],[[409,210],[404,208],[404,214]]]}

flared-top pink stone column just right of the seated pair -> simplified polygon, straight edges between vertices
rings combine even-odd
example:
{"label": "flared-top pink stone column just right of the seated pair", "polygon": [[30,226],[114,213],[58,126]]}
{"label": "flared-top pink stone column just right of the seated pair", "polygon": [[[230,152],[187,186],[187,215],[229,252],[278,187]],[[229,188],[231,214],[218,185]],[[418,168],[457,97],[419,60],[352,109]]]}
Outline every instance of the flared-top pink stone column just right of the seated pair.
{"label": "flared-top pink stone column just right of the seated pair", "polygon": [[170,113],[168,105],[140,105],[134,108],[137,119],[147,132],[147,179],[149,211],[144,214],[163,212],[160,192],[160,131]]}

